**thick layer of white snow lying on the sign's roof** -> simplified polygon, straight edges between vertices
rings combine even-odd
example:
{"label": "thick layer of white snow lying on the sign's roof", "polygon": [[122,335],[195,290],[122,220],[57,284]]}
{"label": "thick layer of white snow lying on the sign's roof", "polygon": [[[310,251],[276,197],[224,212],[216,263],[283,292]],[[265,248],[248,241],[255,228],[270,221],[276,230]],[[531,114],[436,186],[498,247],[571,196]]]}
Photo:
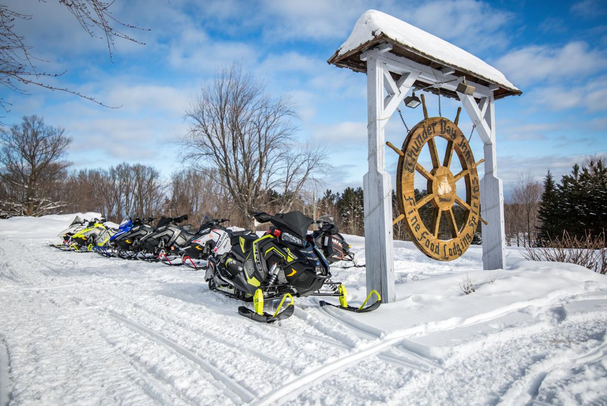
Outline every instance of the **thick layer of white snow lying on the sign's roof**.
{"label": "thick layer of white snow lying on the sign's roof", "polygon": [[339,47],[338,55],[358,49],[383,34],[398,44],[444,63],[458,70],[476,73],[485,80],[506,89],[520,90],[506,79],[503,73],[480,58],[456,47],[444,39],[438,38],[407,22],[376,10],[367,10],[358,19],[348,39]]}

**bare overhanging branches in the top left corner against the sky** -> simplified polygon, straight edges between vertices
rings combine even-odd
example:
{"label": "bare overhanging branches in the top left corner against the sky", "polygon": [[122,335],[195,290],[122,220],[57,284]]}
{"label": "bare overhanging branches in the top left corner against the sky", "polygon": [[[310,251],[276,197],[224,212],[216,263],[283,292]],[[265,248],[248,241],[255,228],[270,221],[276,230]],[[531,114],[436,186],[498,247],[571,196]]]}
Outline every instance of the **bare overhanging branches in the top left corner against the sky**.
{"label": "bare overhanging branches in the top left corner against the sky", "polygon": [[[114,39],[124,38],[129,41],[139,42],[131,36],[118,30],[115,26],[125,29],[139,29],[134,25],[123,24],[118,21],[110,12],[110,7],[114,1],[101,0],[59,0],[59,4],[64,5],[76,20],[83,27],[85,32],[93,38],[105,38],[107,49],[112,58],[114,50]],[[22,85],[33,84],[51,90],[61,90],[72,93],[87,100],[105,106],[100,101],[91,96],[67,89],[66,87],[53,86],[45,83],[44,78],[61,76],[65,72],[47,73],[40,72],[36,63],[46,62],[32,55],[32,46],[27,44],[23,35],[20,35],[15,29],[15,21],[32,19],[33,15],[26,15],[10,10],[6,5],[0,4],[0,84],[8,87],[18,93],[26,93]],[[98,35],[101,31],[101,35]],[[0,98],[0,107],[8,111],[8,103]],[[108,106],[106,106],[108,107]]]}

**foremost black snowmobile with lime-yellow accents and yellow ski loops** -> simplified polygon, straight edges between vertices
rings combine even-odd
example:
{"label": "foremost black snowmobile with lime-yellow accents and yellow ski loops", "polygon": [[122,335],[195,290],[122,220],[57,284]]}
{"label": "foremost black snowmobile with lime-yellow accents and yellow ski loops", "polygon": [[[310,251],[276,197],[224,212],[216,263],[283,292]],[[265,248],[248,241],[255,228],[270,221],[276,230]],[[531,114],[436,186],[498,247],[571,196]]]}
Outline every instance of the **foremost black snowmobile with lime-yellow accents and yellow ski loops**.
{"label": "foremost black snowmobile with lime-yellow accents and yellow ski loops", "polygon": [[[231,250],[209,257],[205,280],[209,289],[245,301],[253,301],[253,310],[240,306],[240,315],[257,322],[273,323],[293,315],[294,296],[333,296],[339,305],[331,305],[357,313],[375,310],[381,297],[371,291],[359,308],[348,306],[347,291],[340,282],[331,282],[329,263],[314,244],[308,228],[314,223],[299,211],[270,215],[252,212],[259,223],[272,223],[262,237],[236,235],[231,237]],[[371,295],[377,300],[365,308]],[[290,302],[283,309],[285,300]],[[264,311],[264,303],[280,300],[273,314]]]}

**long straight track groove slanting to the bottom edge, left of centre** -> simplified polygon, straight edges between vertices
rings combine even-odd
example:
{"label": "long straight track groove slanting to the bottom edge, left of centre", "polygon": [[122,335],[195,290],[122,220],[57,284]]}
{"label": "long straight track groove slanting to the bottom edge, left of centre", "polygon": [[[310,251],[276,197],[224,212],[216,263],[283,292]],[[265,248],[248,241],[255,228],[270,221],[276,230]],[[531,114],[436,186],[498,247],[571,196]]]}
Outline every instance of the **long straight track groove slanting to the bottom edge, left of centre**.
{"label": "long straight track groove slanting to the bottom edge, left of centre", "polygon": [[117,319],[119,322],[122,322],[124,325],[131,328],[131,330],[134,330],[137,333],[143,335],[144,337],[149,337],[150,339],[156,342],[162,343],[172,348],[172,350],[187,357],[195,364],[200,365],[203,370],[211,374],[221,384],[225,385],[225,388],[227,390],[224,390],[224,393],[236,404],[241,404],[242,402],[249,403],[256,398],[253,393],[251,393],[248,389],[240,385],[239,382],[227,376],[225,373],[214,367],[214,365],[210,364],[207,360],[202,359],[197,354],[192,353],[192,351],[181,346],[179,343],[169,339],[168,337],[158,334],[155,331],[149,330],[149,328],[146,328],[140,325],[139,323],[133,322],[132,320],[129,320],[126,317],[121,316],[120,314],[115,313],[112,310],[108,310],[107,313]]}

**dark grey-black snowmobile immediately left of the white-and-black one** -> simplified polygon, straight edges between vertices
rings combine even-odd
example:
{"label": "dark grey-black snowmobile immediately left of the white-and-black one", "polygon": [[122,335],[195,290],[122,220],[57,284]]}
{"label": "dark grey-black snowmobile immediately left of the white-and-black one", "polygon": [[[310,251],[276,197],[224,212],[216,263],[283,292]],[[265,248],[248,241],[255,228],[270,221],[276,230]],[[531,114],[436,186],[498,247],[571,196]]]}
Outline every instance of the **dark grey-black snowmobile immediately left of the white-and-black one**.
{"label": "dark grey-black snowmobile immediately left of the white-and-black one", "polygon": [[183,220],[188,220],[187,214],[161,217],[154,231],[139,240],[140,251],[137,258],[148,262],[165,261],[167,265],[172,265],[171,261],[177,259],[181,246],[194,235],[185,227],[178,226]]}

